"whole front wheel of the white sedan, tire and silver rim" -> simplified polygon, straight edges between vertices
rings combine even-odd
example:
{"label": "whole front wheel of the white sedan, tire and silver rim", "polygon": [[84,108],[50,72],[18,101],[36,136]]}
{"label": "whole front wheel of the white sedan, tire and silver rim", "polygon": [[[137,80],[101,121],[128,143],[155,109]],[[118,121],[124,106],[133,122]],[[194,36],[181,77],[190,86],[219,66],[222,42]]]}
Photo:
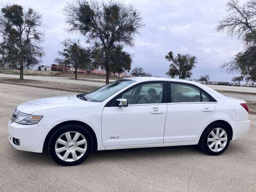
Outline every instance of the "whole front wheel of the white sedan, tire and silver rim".
{"label": "whole front wheel of the white sedan, tire and silver rim", "polygon": [[60,165],[77,165],[91,154],[91,134],[82,125],[62,125],[51,135],[48,151]]}

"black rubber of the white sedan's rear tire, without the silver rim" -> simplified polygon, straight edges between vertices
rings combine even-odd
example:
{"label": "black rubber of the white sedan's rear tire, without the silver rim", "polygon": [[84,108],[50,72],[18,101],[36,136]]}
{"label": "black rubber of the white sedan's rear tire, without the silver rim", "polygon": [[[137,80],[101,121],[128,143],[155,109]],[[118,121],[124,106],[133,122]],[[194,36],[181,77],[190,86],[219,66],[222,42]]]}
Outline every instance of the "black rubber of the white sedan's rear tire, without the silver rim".
{"label": "black rubber of the white sedan's rear tire, without the silver rim", "polygon": [[[211,142],[208,142],[208,136],[211,133],[211,131],[213,131],[217,128],[221,128],[221,129],[226,131],[226,133],[227,133],[227,142],[226,142],[226,146],[224,148],[222,148],[220,151],[215,152],[215,151],[212,151],[209,147]],[[229,141],[230,141],[230,136],[231,136],[231,133],[230,133],[230,131],[227,128],[226,125],[224,125],[222,123],[213,123],[213,124],[209,125],[208,127],[206,127],[206,129],[204,130],[204,132],[201,135],[201,138],[199,140],[198,146],[206,154],[220,155],[228,148]],[[208,145],[208,143],[210,143],[210,144]]]}

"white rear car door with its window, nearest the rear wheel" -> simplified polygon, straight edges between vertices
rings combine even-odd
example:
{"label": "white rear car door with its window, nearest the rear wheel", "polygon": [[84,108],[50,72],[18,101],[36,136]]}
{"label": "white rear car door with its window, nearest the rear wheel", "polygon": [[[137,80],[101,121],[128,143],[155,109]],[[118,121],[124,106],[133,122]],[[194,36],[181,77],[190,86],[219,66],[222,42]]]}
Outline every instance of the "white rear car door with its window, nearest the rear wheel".
{"label": "white rear car door with its window, nearest the rear wheel", "polygon": [[196,141],[214,117],[214,99],[199,87],[169,83],[164,142]]}

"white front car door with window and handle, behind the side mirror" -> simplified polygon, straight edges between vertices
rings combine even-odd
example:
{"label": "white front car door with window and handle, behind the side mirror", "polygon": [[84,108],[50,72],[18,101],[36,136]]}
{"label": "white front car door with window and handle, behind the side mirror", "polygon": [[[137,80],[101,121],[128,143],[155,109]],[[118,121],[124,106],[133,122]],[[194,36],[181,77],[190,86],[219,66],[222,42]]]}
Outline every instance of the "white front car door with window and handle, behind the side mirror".
{"label": "white front car door with window and handle, behind the side mirror", "polygon": [[[167,84],[142,83],[111,100],[102,111],[102,145],[126,146],[163,143]],[[165,96],[164,96],[165,95]],[[118,107],[116,99],[128,100]]]}

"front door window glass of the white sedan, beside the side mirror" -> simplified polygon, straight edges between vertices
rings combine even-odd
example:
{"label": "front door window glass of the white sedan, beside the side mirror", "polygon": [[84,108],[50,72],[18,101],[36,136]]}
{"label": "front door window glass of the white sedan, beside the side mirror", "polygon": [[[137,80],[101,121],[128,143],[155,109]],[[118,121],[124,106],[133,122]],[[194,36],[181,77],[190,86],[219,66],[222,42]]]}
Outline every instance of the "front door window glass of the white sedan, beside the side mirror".
{"label": "front door window glass of the white sedan, beside the side mirror", "polygon": [[128,104],[161,103],[163,98],[164,83],[146,83],[133,87],[123,93],[122,98],[128,100]]}

